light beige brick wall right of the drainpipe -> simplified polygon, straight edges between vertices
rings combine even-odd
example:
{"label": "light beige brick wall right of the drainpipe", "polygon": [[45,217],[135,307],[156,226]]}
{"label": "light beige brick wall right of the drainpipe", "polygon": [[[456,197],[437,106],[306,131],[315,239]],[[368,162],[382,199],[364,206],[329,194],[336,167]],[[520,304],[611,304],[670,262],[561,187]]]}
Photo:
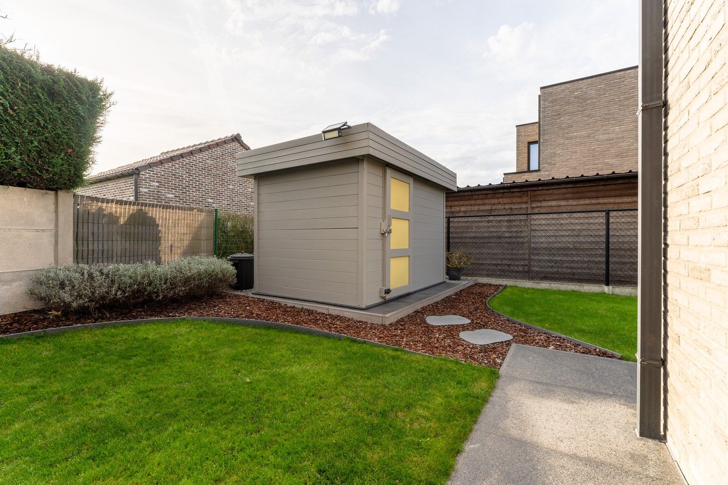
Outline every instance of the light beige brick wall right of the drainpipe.
{"label": "light beige brick wall right of the drainpipe", "polygon": [[689,484],[728,479],[725,0],[667,1],[666,437]]}

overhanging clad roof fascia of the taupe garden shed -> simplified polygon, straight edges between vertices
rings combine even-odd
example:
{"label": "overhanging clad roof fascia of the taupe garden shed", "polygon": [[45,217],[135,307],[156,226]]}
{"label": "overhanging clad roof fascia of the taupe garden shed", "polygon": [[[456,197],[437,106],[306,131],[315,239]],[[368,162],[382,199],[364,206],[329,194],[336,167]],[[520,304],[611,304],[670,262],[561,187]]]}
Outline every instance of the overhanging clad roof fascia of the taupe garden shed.
{"label": "overhanging clad roof fascia of the taupe garden shed", "polygon": [[323,140],[321,134],[276,143],[237,154],[238,177],[305,167],[326,161],[373,156],[396,169],[457,190],[455,172],[397,140],[371,123],[344,130],[341,137]]}

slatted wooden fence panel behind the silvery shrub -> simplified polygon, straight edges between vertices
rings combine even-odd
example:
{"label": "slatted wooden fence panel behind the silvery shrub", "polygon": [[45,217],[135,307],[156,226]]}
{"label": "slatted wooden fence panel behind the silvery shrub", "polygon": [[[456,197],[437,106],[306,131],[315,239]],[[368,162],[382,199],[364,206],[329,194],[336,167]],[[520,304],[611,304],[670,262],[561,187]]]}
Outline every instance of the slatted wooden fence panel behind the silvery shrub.
{"label": "slatted wooden fence panel behind the silvery shrub", "polygon": [[74,196],[74,262],[212,256],[215,209]]}

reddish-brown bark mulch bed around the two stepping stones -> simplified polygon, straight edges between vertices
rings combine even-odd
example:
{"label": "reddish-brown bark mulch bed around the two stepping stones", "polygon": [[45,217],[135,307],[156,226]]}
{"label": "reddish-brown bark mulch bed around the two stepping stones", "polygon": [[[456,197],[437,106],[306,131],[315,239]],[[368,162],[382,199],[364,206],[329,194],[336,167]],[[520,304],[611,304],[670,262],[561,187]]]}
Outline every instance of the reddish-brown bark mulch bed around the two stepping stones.
{"label": "reddish-brown bark mulch bed around the two stepping stones", "polygon": [[[47,310],[30,310],[0,316],[0,334],[47,329],[56,326],[88,324],[94,321],[132,320],[135,318],[221,316],[254,318],[282,323],[310,326],[382,342],[397,347],[417,350],[434,356],[457,358],[464,362],[495,367],[503,363],[510,344],[521,343],[536,347],[586,353],[593,356],[614,357],[603,350],[588,348],[570,340],[515,324],[494,313],[486,300],[500,286],[475,284],[451,294],[439,302],[400,318],[389,325],[368,324],[352,318],[329,315],[305,308],[295,308],[278,302],[226,293],[219,297],[191,302],[146,305],[134,310],[114,310],[96,318],[90,316],[60,316]],[[424,321],[430,315],[462,315],[470,318],[467,325],[432,326]],[[464,330],[496,329],[513,335],[513,340],[491,345],[474,345],[462,340]]]}

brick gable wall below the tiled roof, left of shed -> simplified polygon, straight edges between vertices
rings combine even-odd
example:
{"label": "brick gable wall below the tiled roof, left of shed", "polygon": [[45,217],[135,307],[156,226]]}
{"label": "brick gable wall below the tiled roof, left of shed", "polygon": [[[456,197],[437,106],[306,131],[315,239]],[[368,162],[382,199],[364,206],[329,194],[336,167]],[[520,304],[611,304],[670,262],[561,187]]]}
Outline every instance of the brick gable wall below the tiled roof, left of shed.
{"label": "brick gable wall below the tiled roof, left of shed", "polygon": [[[227,143],[139,173],[138,201],[253,213],[253,181],[237,177],[240,143]],[[134,200],[134,177],[95,183],[82,195]]]}

